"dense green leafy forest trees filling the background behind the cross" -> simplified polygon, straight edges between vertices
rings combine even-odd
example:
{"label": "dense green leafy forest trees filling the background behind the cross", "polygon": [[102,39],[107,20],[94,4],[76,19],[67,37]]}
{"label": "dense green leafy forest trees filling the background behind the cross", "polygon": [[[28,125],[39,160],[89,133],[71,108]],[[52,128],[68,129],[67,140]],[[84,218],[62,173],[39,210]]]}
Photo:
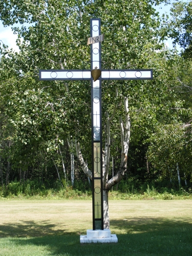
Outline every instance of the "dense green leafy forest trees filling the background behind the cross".
{"label": "dense green leafy forest trees filling the background behind the cross", "polygon": [[[171,6],[169,16],[160,17],[161,4]],[[102,82],[103,142],[111,120],[109,178],[121,161],[123,97],[131,119],[126,172],[113,189],[123,198],[191,196],[191,3],[5,0],[0,13],[19,47],[0,41],[0,197],[91,195],[76,154],[78,141],[91,169],[90,82],[39,81],[38,70],[90,69],[92,17],[101,18],[105,34],[103,69],[154,72],[148,81]],[[180,54],[165,47],[167,38]]]}

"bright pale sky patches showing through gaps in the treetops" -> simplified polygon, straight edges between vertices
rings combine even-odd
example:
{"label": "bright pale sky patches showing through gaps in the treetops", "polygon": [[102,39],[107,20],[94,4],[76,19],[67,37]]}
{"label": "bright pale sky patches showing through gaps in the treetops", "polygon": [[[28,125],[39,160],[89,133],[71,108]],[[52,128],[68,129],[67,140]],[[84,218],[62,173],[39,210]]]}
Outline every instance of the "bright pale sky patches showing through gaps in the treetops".
{"label": "bright pale sky patches showing through gaps in the treetops", "polygon": [[[169,8],[166,6],[161,6],[162,9],[158,9],[160,14],[163,13],[169,13]],[[6,27],[4,28],[2,22],[0,21],[0,40],[2,40],[4,42],[5,45],[8,45],[9,48],[13,48],[13,50],[18,51],[18,47],[16,46],[16,39],[17,39],[17,35],[14,35],[11,27]],[[165,45],[172,49],[173,45],[172,45],[172,40],[169,38],[166,42]],[[179,47],[177,47],[179,50]]]}

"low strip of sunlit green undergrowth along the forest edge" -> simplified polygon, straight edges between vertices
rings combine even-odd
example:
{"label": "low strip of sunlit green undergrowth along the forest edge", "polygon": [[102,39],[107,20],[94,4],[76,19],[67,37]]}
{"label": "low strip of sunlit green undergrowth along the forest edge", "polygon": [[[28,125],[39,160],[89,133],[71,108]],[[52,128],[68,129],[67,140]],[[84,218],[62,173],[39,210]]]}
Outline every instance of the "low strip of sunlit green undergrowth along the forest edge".
{"label": "low strip of sunlit green undergrowth along the forest edge", "polygon": [[[129,179],[122,180],[118,187],[114,187],[109,193],[109,199],[112,200],[176,200],[176,199],[191,199],[191,188],[172,186],[160,186],[162,182],[153,182],[152,184],[141,183],[138,180]],[[46,187],[38,180],[27,181],[20,185],[14,181],[9,183],[9,187],[0,187],[1,199],[80,199],[91,200],[92,189],[89,183],[75,181],[74,186],[63,184],[57,181],[53,187]]]}

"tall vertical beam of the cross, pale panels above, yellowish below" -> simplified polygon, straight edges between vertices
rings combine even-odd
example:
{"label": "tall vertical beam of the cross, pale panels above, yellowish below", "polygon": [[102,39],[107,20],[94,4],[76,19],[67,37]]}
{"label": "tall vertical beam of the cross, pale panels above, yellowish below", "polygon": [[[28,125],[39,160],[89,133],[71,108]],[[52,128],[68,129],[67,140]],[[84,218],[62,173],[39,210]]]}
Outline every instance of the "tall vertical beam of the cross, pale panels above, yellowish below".
{"label": "tall vertical beam of the cross, pale panels above, yellowish below", "polygon": [[[91,19],[91,37],[101,34],[100,19]],[[101,43],[91,45],[91,70],[101,70]],[[91,78],[91,119],[92,119],[92,203],[93,230],[103,229],[103,188],[102,188],[102,111],[101,77],[94,82]]]}

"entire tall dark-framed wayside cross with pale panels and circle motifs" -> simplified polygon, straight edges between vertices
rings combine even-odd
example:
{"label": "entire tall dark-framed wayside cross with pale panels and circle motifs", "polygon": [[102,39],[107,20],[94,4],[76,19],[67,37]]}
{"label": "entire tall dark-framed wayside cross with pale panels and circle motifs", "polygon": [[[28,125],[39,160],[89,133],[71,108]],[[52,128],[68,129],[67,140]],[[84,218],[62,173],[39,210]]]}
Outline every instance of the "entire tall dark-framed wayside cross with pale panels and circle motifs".
{"label": "entire tall dark-framed wayside cross with pale panels and circle motifs", "polygon": [[[39,70],[40,80],[91,80],[93,230],[103,229],[101,81],[153,79],[152,69],[101,69],[100,23],[91,19],[91,70]],[[101,75],[94,81],[91,71],[96,67]]]}

